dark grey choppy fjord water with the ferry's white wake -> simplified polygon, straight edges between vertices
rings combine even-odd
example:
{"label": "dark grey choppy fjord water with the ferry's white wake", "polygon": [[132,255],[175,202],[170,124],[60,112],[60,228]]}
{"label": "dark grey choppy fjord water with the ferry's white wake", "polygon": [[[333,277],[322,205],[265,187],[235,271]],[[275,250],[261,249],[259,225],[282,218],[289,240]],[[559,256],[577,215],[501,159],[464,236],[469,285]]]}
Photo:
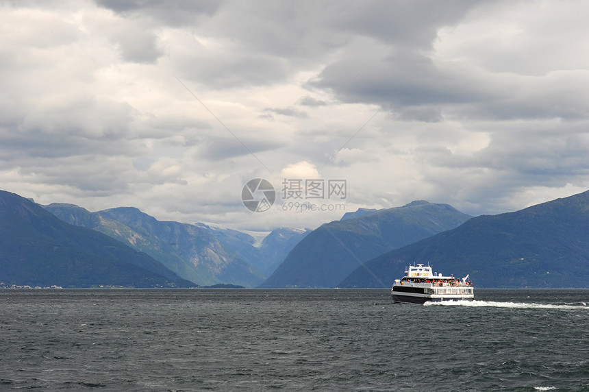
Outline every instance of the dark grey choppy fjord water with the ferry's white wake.
{"label": "dark grey choppy fjord water with the ferry's white wake", "polygon": [[589,291],[0,291],[0,390],[589,391]]}

